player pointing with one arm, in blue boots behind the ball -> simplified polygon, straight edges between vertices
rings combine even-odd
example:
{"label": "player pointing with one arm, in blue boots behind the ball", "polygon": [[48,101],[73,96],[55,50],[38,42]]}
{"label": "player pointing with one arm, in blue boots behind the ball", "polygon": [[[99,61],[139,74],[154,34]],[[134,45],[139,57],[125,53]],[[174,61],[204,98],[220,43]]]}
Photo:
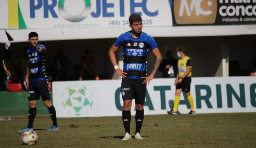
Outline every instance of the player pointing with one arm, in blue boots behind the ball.
{"label": "player pointing with one arm, in blue boots behind the ball", "polygon": [[56,111],[52,102],[50,102],[49,84],[45,71],[46,48],[44,45],[38,44],[38,34],[35,32],[29,34],[29,43],[31,44],[31,47],[27,50],[29,65],[25,78],[26,85],[29,88],[29,124],[19,131],[33,130],[33,123],[36,116],[36,100],[39,100],[40,96],[53,120],[53,126],[49,130],[59,130]]}

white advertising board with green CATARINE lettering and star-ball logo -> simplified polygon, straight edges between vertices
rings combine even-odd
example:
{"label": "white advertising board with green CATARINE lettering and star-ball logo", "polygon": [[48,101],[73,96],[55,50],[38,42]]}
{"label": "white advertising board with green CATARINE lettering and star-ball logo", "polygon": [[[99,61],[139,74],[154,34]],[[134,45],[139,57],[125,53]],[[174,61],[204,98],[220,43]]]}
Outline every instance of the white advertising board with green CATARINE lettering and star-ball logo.
{"label": "white advertising board with green CATARINE lettering and star-ball logo", "polygon": [[[156,78],[147,86],[146,115],[167,114],[175,97],[174,78]],[[121,116],[121,80],[72,81],[53,83],[53,103],[57,117]],[[256,112],[256,83],[253,77],[198,77],[191,83],[196,113]],[[190,106],[181,95],[178,113]],[[134,100],[133,100],[134,101]],[[132,105],[135,115],[135,105]]]}

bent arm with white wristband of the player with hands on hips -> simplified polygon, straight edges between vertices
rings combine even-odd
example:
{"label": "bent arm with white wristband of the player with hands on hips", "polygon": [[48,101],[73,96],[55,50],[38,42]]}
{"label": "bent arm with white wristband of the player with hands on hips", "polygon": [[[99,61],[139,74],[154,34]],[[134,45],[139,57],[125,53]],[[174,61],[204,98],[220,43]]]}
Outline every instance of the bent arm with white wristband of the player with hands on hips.
{"label": "bent arm with white wristband of the player with hands on hips", "polygon": [[[112,47],[110,48],[109,52],[108,52],[108,55],[109,55],[109,58],[110,58],[110,61],[111,63],[113,64],[113,66],[117,66],[117,58],[116,58],[116,55],[114,55],[114,52],[117,52],[117,50],[119,49],[119,47],[115,46],[114,44],[112,45]],[[118,76],[120,78],[124,78],[126,77],[124,74],[127,74],[125,72],[123,72],[121,69],[116,69],[116,72],[118,74]]]}

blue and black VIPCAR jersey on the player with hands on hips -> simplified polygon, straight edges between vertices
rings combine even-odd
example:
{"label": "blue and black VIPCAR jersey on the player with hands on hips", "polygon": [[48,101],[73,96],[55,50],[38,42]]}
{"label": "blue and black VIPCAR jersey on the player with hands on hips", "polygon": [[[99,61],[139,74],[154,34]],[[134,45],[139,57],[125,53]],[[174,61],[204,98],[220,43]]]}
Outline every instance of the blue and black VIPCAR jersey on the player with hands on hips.
{"label": "blue and black VIPCAR jersey on the player with hands on hips", "polygon": [[123,71],[127,73],[126,77],[140,78],[147,76],[147,54],[148,49],[157,48],[155,40],[144,32],[139,38],[133,38],[131,32],[121,34],[115,46],[123,46]]}

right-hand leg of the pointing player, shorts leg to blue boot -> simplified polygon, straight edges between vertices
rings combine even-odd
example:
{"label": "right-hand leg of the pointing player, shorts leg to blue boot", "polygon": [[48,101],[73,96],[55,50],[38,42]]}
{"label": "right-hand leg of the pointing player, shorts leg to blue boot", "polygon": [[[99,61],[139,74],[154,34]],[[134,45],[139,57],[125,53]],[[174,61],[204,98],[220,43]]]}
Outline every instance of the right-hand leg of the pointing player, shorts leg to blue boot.
{"label": "right-hand leg of the pointing player, shorts leg to blue boot", "polygon": [[57,125],[56,110],[52,102],[50,102],[49,84],[46,80],[40,81],[40,95],[44,101],[44,105],[48,108],[50,118],[53,120],[53,126],[49,129],[49,131],[59,130]]}

